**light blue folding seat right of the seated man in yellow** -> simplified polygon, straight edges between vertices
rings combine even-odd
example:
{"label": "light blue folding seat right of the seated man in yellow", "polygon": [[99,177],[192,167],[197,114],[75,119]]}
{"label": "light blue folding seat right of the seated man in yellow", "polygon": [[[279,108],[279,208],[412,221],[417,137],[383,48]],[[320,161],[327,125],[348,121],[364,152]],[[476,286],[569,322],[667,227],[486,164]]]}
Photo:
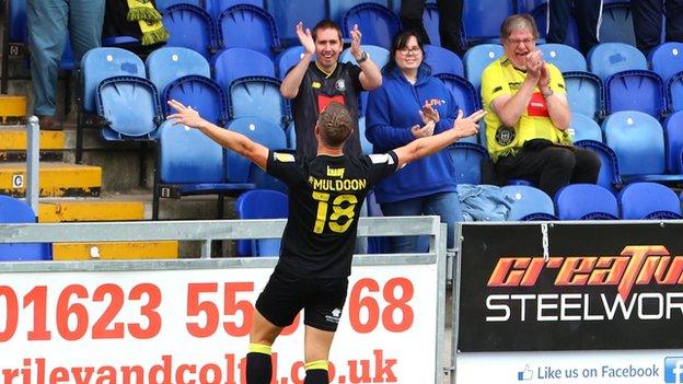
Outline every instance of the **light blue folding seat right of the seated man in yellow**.
{"label": "light blue folding seat right of the seated man in yellow", "polygon": [[618,158],[624,182],[669,182],[683,175],[665,174],[664,132],[657,119],[641,112],[616,112],[603,124],[605,143]]}

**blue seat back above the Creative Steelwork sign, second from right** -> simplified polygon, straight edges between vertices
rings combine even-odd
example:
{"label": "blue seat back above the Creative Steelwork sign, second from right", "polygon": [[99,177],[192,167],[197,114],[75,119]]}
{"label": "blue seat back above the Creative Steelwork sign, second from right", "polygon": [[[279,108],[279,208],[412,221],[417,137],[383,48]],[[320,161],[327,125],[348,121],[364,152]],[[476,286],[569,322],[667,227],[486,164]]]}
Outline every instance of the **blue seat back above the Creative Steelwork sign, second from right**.
{"label": "blue seat back above the Creative Steelwork sign, second from right", "polygon": [[570,184],[554,197],[559,220],[617,220],[618,203],[612,191],[595,184]]}

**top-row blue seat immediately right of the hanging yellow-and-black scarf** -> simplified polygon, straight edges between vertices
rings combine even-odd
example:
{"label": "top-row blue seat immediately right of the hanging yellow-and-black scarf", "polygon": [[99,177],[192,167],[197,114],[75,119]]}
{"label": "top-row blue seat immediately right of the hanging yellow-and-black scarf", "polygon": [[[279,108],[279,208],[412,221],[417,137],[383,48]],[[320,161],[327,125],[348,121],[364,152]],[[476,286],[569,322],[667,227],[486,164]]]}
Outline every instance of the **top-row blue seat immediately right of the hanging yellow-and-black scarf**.
{"label": "top-row blue seat immediately right of the hanging yellow-and-black scarf", "polygon": [[213,21],[207,11],[197,5],[176,4],[169,7],[162,22],[169,31],[167,47],[185,47],[210,59],[217,46]]}

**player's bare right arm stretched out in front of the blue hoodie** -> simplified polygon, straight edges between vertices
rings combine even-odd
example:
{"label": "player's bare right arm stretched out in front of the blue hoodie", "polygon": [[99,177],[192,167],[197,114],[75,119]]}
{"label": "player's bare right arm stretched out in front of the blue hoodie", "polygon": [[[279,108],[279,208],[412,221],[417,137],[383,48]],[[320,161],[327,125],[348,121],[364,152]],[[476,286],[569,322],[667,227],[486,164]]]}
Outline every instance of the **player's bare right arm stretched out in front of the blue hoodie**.
{"label": "player's bare right arm stretched out in front of the blue hoodie", "polygon": [[[395,149],[394,153],[396,153],[396,156],[398,158],[398,167],[402,167],[412,161],[435,154],[459,139],[476,135],[479,129],[477,121],[485,115],[486,112],[479,109],[463,118],[463,112],[460,110],[458,113],[458,118],[453,124],[453,128],[444,130],[439,135],[415,139],[410,141],[410,143]],[[433,125],[433,120],[429,121],[427,125],[429,124]]]}

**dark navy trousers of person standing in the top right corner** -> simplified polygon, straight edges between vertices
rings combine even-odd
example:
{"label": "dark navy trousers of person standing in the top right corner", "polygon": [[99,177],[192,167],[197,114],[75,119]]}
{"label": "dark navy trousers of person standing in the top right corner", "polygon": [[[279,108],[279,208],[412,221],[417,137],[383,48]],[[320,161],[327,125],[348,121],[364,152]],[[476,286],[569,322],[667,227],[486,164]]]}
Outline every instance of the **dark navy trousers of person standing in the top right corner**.
{"label": "dark navy trousers of person standing in the top right corner", "polygon": [[633,11],[636,45],[644,54],[661,40],[662,15],[667,12],[667,42],[683,42],[683,0],[634,0]]}

